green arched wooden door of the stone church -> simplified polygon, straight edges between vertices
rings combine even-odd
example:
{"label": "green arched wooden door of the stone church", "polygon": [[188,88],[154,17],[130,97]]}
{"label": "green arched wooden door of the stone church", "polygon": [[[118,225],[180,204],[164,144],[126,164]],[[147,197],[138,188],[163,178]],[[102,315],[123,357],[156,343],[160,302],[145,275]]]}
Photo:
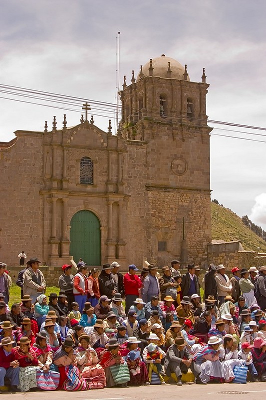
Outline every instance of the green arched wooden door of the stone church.
{"label": "green arched wooden door of the stone church", "polygon": [[101,265],[101,231],[98,217],[91,211],[76,212],[70,222],[70,255],[77,263]]}

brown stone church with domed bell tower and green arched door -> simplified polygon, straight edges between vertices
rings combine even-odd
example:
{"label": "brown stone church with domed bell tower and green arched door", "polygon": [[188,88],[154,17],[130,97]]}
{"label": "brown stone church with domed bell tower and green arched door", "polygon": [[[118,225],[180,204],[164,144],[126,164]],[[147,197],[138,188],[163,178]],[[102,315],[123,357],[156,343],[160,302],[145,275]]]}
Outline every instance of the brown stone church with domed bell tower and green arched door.
{"label": "brown stone church with domed bell tower and green arched door", "polygon": [[[15,131],[0,143],[0,260],[23,249],[47,265],[73,255],[162,266],[207,260],[211,243],[208,84],[162,55],[120,92],[116,134],[93,117],[74,127]],[[86,112],[87,115],[87,112]],[[57,126],[57,127],[56,127]]]}

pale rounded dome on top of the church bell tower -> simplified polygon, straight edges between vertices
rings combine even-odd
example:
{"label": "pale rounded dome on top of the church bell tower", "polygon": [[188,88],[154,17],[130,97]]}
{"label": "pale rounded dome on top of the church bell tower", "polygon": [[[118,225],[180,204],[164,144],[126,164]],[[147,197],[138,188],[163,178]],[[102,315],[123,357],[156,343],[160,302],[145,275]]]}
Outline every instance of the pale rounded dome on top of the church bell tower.
{"label": "pale rounded dome on top of the church bell tower", "polygon": [[[172,71],[171,73],[168,72],[168,67],[170,62],[170,70]],[[143,67],[142,67],[142,73],[144,76],[149,76],[150,71],[150,61],[148,61]],[[153,76],[160,76],[161,78],[173,78],[173,79],[184,79],[184,72],[185,68],[183,65],[180,64],[176,59],[171,58],[171,57],[166,57],[164,54],[162,54],[160,57],[156,57],[152,59],[152,67],[153,71],[152,74]],[[140,72],[138,73],[137,76],[137,81],[140,80]],[[188,79],[189,76],[188,76]]]}

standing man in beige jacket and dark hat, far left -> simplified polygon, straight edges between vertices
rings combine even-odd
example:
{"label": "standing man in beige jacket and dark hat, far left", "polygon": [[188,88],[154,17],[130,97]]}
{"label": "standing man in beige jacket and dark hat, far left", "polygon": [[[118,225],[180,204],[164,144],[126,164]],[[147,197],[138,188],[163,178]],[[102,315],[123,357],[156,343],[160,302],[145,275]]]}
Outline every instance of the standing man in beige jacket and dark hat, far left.
{"label": "standing man in beige jacket and dark hat, far left", "polygon": [[38,269],[40,262],[38,258],[30,258],[27,261],[28,268],[23,274],[23,294],[29,294],[33,302],[46,290],[43,273]]}

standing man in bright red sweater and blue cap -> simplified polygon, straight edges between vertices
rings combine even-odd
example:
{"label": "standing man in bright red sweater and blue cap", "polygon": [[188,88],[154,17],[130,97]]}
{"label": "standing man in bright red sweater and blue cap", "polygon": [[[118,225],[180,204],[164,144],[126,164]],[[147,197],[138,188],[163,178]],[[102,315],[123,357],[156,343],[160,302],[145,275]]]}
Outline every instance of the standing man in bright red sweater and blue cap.
{"label": "standing man in bright red sweater and blue cap", "polygon": [[129,311],[131,305],[134,304],[134,301],[137,297],[139,297],[139,289],[142,286],[141,280],[136,272],[138,268],[136,265],[131,264],[128,267],[128,272],[124,275],[124,290],[126,297],[126,314]]}

